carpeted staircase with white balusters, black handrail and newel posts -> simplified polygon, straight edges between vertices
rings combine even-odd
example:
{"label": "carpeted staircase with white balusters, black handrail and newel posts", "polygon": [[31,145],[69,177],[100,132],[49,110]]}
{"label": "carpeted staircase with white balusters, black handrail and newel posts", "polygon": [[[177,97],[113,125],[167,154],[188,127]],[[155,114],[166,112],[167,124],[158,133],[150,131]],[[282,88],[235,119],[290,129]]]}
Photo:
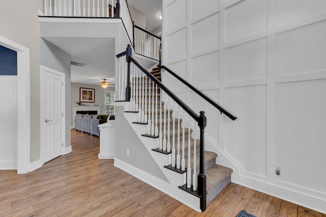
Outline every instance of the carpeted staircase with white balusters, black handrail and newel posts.
{"label": "carpeted staircase with white balusters, black handrail and newel posts", "polygon": [[[230,183],[233,171],[216,165],[218,155],[204,150],[204,112],[198,116],[169,92],[160,83],[161,70],[158,66],[148,72],[131,55],[128,57],[128,53],[131,54],[131,51],[128,52],[127,48],[126,60],[129,62],[125,68],[130,69],[130,74],[122,77],[127,77],[125,92],[130,90],[130,102],[125,107],[125,114],[134,113],[136,119],[131,127],[146,126],[141,137],[151,138],[153,148],[149,151],[162,155],[153,157],[156,164],[161,167],[161,159],[164,158],[164,162],[169,164],[163,164],[162,172],[167,177],[171,174],[168,171],[182,177],[175,180],[168,178],[172,186],[177,186],[174,191],[184,191],[189,193],[188,197],[200,198],[200,209],[204,211]],[[200,127],[197,127],[197,122]]]}

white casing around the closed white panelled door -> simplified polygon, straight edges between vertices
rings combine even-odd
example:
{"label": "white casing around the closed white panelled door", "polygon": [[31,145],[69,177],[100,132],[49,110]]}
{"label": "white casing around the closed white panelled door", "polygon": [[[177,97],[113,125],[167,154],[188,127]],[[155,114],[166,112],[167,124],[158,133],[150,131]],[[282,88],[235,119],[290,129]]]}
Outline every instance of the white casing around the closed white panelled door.
{"label": "white casing around the closed white panelled door", "polygon": [[[65,111],[65,108],[66,108],[66,95],[65,95],[65,92],[66,92],[66,85],[65,85],[65,74],[63,72],[60,72],[60,71],[57,71],[57,70],[54,70],[54,69],[51,69],[51,68],[48,68],[46,66],[40,66],[40,141],[41,141],[41,146],[40,146],[40,152],[41,152],[41,162],[44,164],[44,156],[43,156],[43,89],[44,89],[44,84],[43,84],[43,72],[44,71],[49,71],[53,74],[57,74],[59,76],[61,76],[61,82],[62,82],[62,96],[61,96],[61,100],[62,100],[62,113],[63,113],[63,116],[62,116],[62,141],[61,143],[63,144],[62,146],[62,152],[61,152],[61,155],[64,155],[66,153],[66,150],[65,150],[65,146],[66,146],[66,111]],[[71,146],[70,146],[71,147]],[[69,153],[69,152],[67,152]]]}

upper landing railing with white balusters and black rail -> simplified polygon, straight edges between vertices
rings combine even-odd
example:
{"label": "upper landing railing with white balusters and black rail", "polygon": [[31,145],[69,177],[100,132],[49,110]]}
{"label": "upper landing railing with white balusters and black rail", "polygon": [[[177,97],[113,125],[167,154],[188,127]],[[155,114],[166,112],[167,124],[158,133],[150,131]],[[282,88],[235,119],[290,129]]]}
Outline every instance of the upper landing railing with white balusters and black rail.
{"label": "upper landing railing with white balusters and black rail", "polygon": [[134,25],[126,0],[43,0],[44,16],[121,18],[135,53],[159,60],[157,37]]}

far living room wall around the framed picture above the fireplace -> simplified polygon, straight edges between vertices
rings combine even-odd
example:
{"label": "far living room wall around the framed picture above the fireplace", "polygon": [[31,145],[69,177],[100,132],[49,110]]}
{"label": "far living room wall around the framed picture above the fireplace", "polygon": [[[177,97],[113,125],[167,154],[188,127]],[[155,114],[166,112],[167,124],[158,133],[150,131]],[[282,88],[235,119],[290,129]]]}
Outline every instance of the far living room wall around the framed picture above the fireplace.
{"label": "far living room wall around the framed picture above the fireplace", "polygon": [[[95,103],[83,102],[86,105],[100,105],[101,106],[101,114],[105,113],[104,107],[104,91],[115,91],[114,88],[107,87],[103,89],[100,85],[84,85],[71,83],[71,98],[70,98],[70,107],[76,105],[76,102],[79,102],[79,88],[92,88],[95,89]],[[70,118],[70,126],[73,126],[73,114],[71,109],[71,118]],[[70,128],[70,127],[69,127]]]}

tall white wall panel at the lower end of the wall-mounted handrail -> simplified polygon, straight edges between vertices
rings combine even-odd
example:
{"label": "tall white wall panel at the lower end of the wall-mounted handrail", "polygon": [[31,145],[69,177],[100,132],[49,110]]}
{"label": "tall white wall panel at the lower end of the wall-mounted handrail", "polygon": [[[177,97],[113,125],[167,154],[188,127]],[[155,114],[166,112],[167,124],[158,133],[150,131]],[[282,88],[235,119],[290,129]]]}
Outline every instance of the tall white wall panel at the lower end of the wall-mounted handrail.
{"label": "tall white wall panel at the lower end of the wall-mounted handrail", "polygon": [[243,171],[266,176],[266,85],[225,89],[225,104],[239,117],[225,123],[225,151]]}

